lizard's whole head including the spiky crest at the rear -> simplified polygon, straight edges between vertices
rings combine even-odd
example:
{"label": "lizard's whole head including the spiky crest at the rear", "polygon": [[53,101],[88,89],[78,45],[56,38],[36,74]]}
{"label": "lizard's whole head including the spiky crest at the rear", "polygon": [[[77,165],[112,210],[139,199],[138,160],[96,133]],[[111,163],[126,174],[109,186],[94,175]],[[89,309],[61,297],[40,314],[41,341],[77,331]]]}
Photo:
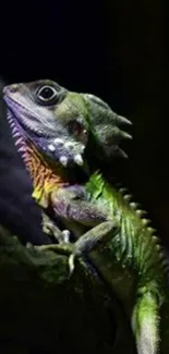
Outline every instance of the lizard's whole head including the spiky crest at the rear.
{"label": "lizard's whole head including the spiky crest at the rear", "polygon": [[87,146],[101,158],[124,156],[119,142],[131,136],[119,126],[131,123],[98,97],[49,80],[9,85],[3,93],[17,145],[22,137],[64,167],[83,166]]}

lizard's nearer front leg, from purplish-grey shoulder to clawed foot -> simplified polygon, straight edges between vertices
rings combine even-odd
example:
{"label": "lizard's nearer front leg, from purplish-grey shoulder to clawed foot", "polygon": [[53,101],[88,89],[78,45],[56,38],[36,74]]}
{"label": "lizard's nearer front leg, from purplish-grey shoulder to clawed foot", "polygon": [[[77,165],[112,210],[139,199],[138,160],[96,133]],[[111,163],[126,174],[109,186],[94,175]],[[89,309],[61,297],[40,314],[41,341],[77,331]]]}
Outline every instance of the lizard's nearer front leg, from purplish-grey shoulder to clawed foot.
{"label": "lizard's nearer front leg, from purplish-grey shoulder to clawed foot", "polygon": [[52,245],[52,247],[45,246],[43,248],[52,249],[57,253],[63,252],[67,255],[70,254],[69,265],[72,272],[74,269],[74,258],[81,258],[81,263],[84,260],[84,265],[86,265],[87,254],[93,249],[101,248],[102,245],[117,234],[119,228],[113,221],[108,221],[107,215],[94,203],[87,202],[85,194],[81,193],[79,195],[75,191],[60,188],[51,195],[51,202],[56,216],[61,218],[63,222],[70,222],[71,227],[75,224],[75,228],[80,228],[80,230],[82,230],[82,225],[90,228],[86,233],[79,234],[79,240],[71,247],[69,245],[67,247],[63,244],[61,246]]}

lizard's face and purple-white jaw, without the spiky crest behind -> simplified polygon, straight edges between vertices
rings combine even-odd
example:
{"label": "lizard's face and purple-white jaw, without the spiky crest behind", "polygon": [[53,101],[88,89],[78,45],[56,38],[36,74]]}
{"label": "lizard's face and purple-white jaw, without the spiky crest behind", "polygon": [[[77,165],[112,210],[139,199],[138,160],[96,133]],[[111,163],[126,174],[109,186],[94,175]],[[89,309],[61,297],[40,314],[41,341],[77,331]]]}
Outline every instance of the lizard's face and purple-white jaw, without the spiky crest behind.
{"label": "lizard's face and purple-white jaw, without the spiky crest behind", "polygon": [[49,80],[14,84],[4,88],[13,135],[20,134],[64,167],[83,163],[87,144],[83,99]]}

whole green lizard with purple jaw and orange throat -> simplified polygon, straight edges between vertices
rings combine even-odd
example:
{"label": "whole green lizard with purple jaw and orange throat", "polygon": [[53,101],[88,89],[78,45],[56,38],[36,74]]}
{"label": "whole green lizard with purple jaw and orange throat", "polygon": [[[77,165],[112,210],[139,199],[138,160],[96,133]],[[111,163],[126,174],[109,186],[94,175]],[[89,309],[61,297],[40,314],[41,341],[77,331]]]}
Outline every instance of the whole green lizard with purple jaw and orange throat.
{"label": "whole green lizard with purple jaw and orange throat", "polygon": [[[33,196],[44,210],[51,206],[61,230],[68,227],[75,237],[81,236],[65,251],[87,258],[117,293],[132,318],[138,354],[157,353],[159,307],[165,297],[158,239],[123,191],[98,173],[82,185],[73,173],[75,164],[87,171],[88,149],[98,158],[124,156],[119,141],[130,135],[119,125],[129,121],[99,98],[70,93],[50,81],[8,86],[4,99],[16,146],[33,179]],[[52,228],[53,223],[49,231]],[[68,232],[55,228],[57,240],[69,242]]]}

